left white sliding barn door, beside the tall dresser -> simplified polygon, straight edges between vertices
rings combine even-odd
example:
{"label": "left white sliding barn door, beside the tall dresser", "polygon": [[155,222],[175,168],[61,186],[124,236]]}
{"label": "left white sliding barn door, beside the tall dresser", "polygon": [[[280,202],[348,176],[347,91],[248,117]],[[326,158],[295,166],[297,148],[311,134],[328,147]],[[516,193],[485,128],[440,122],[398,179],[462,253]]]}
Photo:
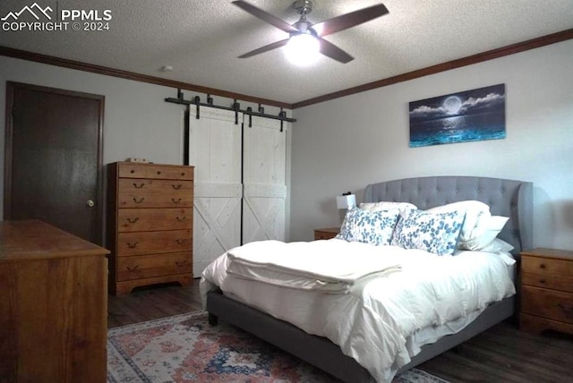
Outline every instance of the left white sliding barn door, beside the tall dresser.
{"label": "left white sliding barn door, beside the tall dresser", "polygon": [[189,165],[195,166],[193,277],[241,243],[241,124],[235,112],[192,107]]}

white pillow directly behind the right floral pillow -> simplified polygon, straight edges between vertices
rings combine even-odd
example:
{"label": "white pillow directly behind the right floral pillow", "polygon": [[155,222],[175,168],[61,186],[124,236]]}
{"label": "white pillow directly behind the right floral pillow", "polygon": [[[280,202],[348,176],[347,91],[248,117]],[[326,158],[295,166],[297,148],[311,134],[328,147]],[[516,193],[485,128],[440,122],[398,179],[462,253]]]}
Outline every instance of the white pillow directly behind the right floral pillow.
{"label": "white pillow directly behind the right floral pillow", "polygon": [[426,209],[425,211],[430,213],[450,213],[457,211],[461,215],[466,215],[464,226],[462,226],[462,231],[459,234],[458,247],[463,243],[475,240],[475,238],[481,234],[478,228],[483,226],[483,224],[492,217],[490,207],[479,200],[460,200],[447,205]]}

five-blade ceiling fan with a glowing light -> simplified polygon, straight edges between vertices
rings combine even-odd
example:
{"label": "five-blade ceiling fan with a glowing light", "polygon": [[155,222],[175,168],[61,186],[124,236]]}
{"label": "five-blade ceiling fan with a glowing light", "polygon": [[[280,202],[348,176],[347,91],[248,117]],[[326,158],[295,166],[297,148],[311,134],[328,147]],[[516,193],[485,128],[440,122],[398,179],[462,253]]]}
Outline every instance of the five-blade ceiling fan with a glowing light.
{"label": "five-blade ceiling fan with a glowing light", "polygon": [[291,25],[243,0],[234,1],[233,4],[242,10],[251,13],[253,16],[258,17],[262,21],[266,21],[277,27],[279,30],[284,30],[289,34],[289,37],[284,40],[254,49],[251,52],[240,55],[239,58],[260,55],[261,53],[268,52],[271,49],[293,45],[295,40],[304,40],[313,45],[314,49],[320,51],[322,55],[329,56],[340,63],[346,64],[354,60],[354,57],[348,55],[344,50],[325,40],[324,37],[339,32],[340,30],[347,30],[348,28],[355,27],[358,24],[371,21],[372,19],[389,13],[384,4],[376,4],[355,12],[334,17],[327,21],[312,24],[312,22],[306,20],[306,15],[312,11],[312,1],[300,0],[295,2],[295,9],[301,15],[300,20]]}

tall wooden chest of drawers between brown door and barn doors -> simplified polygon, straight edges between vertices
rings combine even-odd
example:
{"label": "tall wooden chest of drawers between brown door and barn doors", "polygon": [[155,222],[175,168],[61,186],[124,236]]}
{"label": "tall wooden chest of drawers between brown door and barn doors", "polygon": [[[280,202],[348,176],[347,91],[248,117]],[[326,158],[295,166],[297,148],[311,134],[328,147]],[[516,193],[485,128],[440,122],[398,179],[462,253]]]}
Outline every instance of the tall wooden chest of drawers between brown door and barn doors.
{"label": "tall wooden chest of drawers between brown door and barn doors", "polygon": [[193,167],[116,162],[107,170],[110,293],[190,285]]}

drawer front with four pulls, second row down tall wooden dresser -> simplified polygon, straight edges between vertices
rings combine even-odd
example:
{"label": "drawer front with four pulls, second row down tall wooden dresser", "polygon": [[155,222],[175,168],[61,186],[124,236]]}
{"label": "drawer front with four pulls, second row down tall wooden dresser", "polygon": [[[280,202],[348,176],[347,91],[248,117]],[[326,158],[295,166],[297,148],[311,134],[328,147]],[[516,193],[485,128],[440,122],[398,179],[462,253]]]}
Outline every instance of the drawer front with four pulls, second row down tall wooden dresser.
{"label": "drawer front with four pulls, second row down tall wooden dresser", "polygon": [[192,208],[192,181],[122,178],[117,191],[119,208]]}

